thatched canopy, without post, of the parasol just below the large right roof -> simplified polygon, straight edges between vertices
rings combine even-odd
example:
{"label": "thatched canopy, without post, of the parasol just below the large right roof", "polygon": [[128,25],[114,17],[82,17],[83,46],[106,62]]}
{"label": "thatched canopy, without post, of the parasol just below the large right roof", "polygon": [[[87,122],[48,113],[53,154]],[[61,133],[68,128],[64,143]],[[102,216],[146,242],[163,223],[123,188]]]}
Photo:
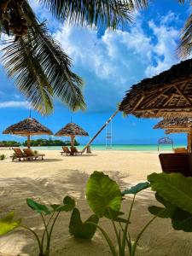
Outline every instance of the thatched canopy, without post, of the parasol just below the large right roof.
{"label": "thatched canopy, without post, of the parasol just below the large right roof", "polygon": [[[192,118],[172,118],[163,119],[157,125],[154,125],[154,129],[174,129],[174,130],[190,130],[192,128]],[[189,129],[188,129],[189,128]]]}

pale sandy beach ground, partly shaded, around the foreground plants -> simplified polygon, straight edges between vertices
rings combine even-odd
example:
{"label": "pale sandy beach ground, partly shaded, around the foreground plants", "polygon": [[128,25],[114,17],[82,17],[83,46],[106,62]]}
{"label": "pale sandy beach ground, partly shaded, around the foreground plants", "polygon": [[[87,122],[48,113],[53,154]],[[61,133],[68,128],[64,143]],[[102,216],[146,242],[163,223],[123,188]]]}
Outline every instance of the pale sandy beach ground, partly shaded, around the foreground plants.
{"label": "pale sandy beach ground, partly shaded, around the foreground plants", "polygon": [[[82,218],[90,216],[91,211],[84,198],[86,182],[92,172],[102,171],[112,177],[121,189],[145,181],[151,172],[161,172],[158,154],[154,152],[96,151],[83,156],[61,156],[58,151],[46,151],[45,160],[15,161],[9,157],[0,161],[0,216],[14,210],[22,223],[40,232],[43,229],[38,214],[26,206],[30,197],[46,204],[60,203],[65,195],[77,201]],[[1,150],[0,154],[9,156],[11,150]],[[127,212],[131,199],[122,204]],[[154,193],[148,189],[137,196],[133,209],[130,231],[137,234],[151,215],[148,206],[157,204]],[[55,225],[51,255],[58,256],[96,256],[111,255],[101,233],[96,231],[92,241],[74,239],[68,235],[70,213],[63,212]],[[114,241],[112,226],[101,219],[104,227]],[[189,256],[192,255],[192,235],[172,230],[171,221],[156,219],[144,233],[137,255],[144,256]],[[115,241],[114,241],[115,242]],[[0,238],[0,256],[37,256],[37,244],[26,230],[15,230]]]}

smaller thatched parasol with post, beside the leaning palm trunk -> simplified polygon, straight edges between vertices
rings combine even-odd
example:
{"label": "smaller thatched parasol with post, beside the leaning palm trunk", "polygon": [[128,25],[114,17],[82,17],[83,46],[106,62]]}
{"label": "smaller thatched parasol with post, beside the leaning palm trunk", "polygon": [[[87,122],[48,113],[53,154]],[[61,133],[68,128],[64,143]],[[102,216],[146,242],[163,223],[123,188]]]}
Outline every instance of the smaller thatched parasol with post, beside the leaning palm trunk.
{"label": "smaller thatched parasol with post, beside the leaning palm trunk", "polygon": [[79,125],[76,125],[74,123],[69,123],[66,126],[64,126],[63,128],[61,128],[60,131],[57,131],[55,133],[55,136],[71,137],[71,145],[74,146],[75,136],[89,136],[89,134],[86,131],[84,131]]}

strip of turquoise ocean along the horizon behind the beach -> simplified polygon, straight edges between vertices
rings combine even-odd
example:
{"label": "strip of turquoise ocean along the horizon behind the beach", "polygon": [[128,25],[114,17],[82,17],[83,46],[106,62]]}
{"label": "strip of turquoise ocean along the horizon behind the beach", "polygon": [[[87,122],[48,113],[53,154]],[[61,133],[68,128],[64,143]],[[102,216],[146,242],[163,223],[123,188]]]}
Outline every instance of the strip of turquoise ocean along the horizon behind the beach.
{"label": "strip of turquoise ocean along the horizon behind the beach", "polygon": [[[183,144],[177,144],[174,145],[174,148],[179,148],[179,147],[186,147],[186,145]],[[80,145],[77,148],[81,150],[84,148],[84,145]],[[92,150],[122,150],[122,151],[157,151],[157,145],[151,144],[151,145],[146,145],[146,144],[119,144],[119,145],[113,145],[112,148],[106,148],[106,145],[104,144],[93,144],[90,146]],[[32,149],[36,150],[61,150],[61,147],[32,147]],[[160,145],[160,151],[170,151],[172,150],[172,145]]]}

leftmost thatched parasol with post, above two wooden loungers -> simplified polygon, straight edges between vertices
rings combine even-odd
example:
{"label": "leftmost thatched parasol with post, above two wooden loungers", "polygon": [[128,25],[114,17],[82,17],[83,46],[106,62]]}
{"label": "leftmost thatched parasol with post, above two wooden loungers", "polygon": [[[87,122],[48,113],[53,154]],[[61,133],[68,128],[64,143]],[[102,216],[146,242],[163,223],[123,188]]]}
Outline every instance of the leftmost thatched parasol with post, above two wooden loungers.
{"label": "leftmost thatched parasol with post, above two wooden loungers", "polygon": [[52,135],[44,125],[41,125],[36,119],[27,118],[15,125],[9,126],[3,134],[15,134],[27,137],[27,147],[30,148],[30,137],[33,135]]}

